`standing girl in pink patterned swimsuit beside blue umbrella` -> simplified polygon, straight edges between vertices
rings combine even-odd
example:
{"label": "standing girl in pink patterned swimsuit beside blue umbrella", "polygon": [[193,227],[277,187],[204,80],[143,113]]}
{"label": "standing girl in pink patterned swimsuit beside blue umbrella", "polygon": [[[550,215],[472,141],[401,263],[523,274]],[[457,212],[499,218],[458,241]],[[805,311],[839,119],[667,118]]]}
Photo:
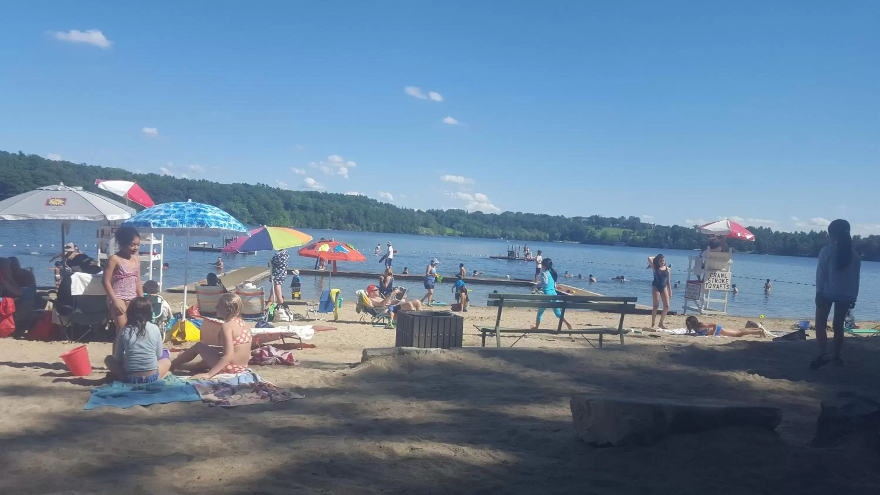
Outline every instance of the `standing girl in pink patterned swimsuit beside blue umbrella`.
{"label": "standing girl in pink patterned swimsuit beside blue umbrella", "polygon": [[132,227],[120,227],[116,229],[116,245],[119,251],[107,259],[104,269],[104,290],[110,317],[113,318],[116,331],[120,331],[128,323],[125,316],[128,302],[143,296],[141,260],[137,255],[141,236]]}

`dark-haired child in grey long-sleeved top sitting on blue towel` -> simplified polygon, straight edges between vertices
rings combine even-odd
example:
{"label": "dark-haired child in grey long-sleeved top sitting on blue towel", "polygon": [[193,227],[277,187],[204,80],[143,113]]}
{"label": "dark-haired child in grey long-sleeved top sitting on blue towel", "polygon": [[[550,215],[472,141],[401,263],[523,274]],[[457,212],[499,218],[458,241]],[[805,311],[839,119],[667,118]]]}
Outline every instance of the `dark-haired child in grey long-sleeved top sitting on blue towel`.
{"label": "dark-haired child in grey long-sleeved top sitting on blue towel", "polygon": [[146,297],[136,297],[126,309],[127,324],[116,336],[114,353],[104,360],[114,380],[152,383],[165,377],[171,360],[162,357],[162,333],[150,323],[153,306]]}

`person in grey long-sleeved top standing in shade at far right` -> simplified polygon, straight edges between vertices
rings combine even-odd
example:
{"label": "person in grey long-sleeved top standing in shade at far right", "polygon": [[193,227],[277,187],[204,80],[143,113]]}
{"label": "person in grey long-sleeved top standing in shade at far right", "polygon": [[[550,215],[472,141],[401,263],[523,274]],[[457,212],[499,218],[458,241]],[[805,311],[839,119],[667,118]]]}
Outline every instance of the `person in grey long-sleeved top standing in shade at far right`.
{"label": "person in grey long-sleeved top standing in shade at far right", "polygon": [[[819,251],[816,266],[816,341],[819,355],[810,363],[810,368],[822,368],[829,362],[843,366],[840,347],[843,346],[843,323],[847,310],[855,307],[859,295],[859,271],[862,261],[853,249],[853,239],[849,236],[849,222],[835,220],[828,225],[830,246]],[[834,349],[828,358],[828,314],[834,305]]]}

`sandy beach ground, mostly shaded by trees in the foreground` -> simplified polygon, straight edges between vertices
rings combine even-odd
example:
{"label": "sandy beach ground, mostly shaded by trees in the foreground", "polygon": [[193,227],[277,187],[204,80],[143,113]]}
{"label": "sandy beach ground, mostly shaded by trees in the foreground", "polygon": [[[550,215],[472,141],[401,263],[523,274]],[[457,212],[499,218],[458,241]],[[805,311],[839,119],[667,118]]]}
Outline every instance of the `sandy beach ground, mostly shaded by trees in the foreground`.
{"label": "sandy beach ground, mostly shaded by trees in the foreground", "polygon": [[[295,311],[299,311],[294,307]],[[662,333],[608,338],[528,336],[479,346],[466,314],[466,347],[370,360],[394,331],[357,323],[352,305],[297,352],[298,367],[254,367],[305,398],[224,410],[202,403],[83,411],[104,377],[109,344],[89,344],[93,375],[58,359],[70,343],[0,342],[4,493],[876,493],[880,459],[858,444],[810,448],[818,401],[872,393],[880,339],[848,337],[847,365],[810,371],[815,342],[694,338]],[[572,312],[573,324],[612,315]],[[505,309],[503,324],[534,312]],[[725,327],[746,318],[723,317]],[[554,324],[552,313],[545,325]],[[786,331],[791,320],[766,320]],[[627,317],[627,326],[649,317]],[[684,317],[670,317],[671,327]],[[510,346],[517,336],[505,336]],[[494,344],[494,342],[493,342]],[[649,448],[590,448],[576,440],[576,394],[657,397],[780,407],[776,433],[727,429]]]}

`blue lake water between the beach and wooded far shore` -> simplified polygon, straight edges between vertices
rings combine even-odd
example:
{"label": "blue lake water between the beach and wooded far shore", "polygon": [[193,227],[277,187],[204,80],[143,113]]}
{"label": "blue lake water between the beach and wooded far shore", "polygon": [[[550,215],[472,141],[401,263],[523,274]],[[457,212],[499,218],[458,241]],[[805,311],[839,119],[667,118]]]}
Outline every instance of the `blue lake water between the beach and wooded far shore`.
{"label": "blue lake water between the beach and wooded far shore", "polygon": [[[73,222],[67,240],[76,243],[80,249],[90,256],[96,252],[97,222]],[[473,239],[463,237],[410,236],[400,234],[381,234],[370,232],[341,232],[334,230],[302,229],[316,239],[320,237],[334,238],[352,244],[367,257],[365,263],[340,263],[340,270],[380,272],[383,266],[378,263],[379,257],[372,255],[376,244],[392,241],[399,252],[394,257],[395,272],[400,273],[405,266],[410,273],[424,273],[430,258],[438,258],[441,262],[440,273],[444,276],[458,273],[458,264],[464,263],[468,273],[473,270],[486,272],[487,276],[532,279],[534,263],[524,261],[508,261],[489,259],[490,255],[501,255],[508,243],[502,240]],[[61,251],[61,226],[59,222],[49,221],[0,221],[0,257],[18,257],[23,266],[33,266],[34,273],[41,285],[53,283],[52,272],[45,268],[51,266],[48,259]],[[222,244],[217,237],[192,237],[193,243],[204,241],[209,244]],[[13,246],[15,244],[15,246]],[[30,244],[30,245],[28,245]],[[42,244],[42,247],[38,246]],[[55,244],[54,246],[51,244]],[[183,283],[183,265],[186,254],[186,237],[165,237],[165,262],[171,268],[165,270],[165,288]],[[595,246],[585,244],[555,243],[523,243],[528,244],[532,251],[544,251],[545,258],[553,258],[554,268],[562,274],[568,271],[586,278],[592,273],[598,282],[588,283],[586,280],[566,279],[563,283],[575,287],[586,288],[604,295],[634,295],[642,304],[650,305],[650,282],[653,275],[646,269],[648,256],[663,252],[668,264],[672,266],[674,281],[686,280],[687,257],[696,251],[656,250],[645,248]],[[225,255],[226,270],[239,266],[266,265],[271,253],[256,255]],[[203,278],[211,267],[209,263],[216,260],[216,253],[189,253],[190,278]],[[290,250],[290,266],[298,268],[314,267],[314,259],[299,258],[296,250]],[[766,256],[752,254],[733,255],[733,283],[737,284],[740,293],[730,295],[728,312],[736,316],[766,317],[810,317],[814,312],[815,296],[814,278],[816,259],[791,258],[783,256]],[[629,280],[620,283],[611,280],[616,275],[625,275]],[[862,284],[859,305],[854,309],[856,319],[880,319],[880,307],[874,304],[880,296],[880,263],[862,262]],[[454,276],[453,276],[454,278]],[[764,280],[774,281],[773,293],[764,295]],[[303,297],[317,298],[324,288],[341,288],[343,297],[349,301],[354,299],[354,291],[365,288],[370,283],[366,279],[337,277],[332,284],[324,277],[303,277]],[[400,284],[399,284],[400,285]],[[406,281],[403,285],[410,288],[411,297],[421,298],[424,295],[422,284]],[[499,292],[525,292],[526,288],[509,286],[476,285],[471,296],[477,304],[486,301],[486,295],[493,290]],[[285,295],[290,289],[285,288]],[[437,286],[437,301],[451,302],[451,286]],[[672,309],[680,309],[684,302],[684,288],[673,289]]]}

